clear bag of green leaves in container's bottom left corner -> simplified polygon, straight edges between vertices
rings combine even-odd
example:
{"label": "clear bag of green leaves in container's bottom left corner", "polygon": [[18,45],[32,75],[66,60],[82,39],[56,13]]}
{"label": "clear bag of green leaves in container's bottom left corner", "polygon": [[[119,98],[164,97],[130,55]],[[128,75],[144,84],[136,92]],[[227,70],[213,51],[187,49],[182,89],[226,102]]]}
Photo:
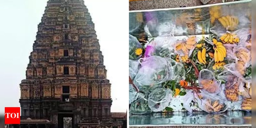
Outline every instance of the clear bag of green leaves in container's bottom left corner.
{"label": "clear bag of green leaves in container's bottom left corner", "polygon": [[147,97],[144,94],[139,93],[138,99],[132,102],[129,113],[135,115],[151,113]]}

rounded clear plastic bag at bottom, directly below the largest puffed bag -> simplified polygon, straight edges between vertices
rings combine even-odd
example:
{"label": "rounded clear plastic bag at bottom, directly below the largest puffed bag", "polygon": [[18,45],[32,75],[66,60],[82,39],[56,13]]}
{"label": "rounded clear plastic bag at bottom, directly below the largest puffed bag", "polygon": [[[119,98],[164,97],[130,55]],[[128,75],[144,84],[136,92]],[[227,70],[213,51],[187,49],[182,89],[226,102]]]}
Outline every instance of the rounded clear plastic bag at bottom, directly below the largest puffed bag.
{"label": "rounded clear plastic bag at bottom, directly below the largest puffed bag", "polygon": [[171,102],[171,89],[157,88],[148,95],[148,106],[153,112],[164,110]]}

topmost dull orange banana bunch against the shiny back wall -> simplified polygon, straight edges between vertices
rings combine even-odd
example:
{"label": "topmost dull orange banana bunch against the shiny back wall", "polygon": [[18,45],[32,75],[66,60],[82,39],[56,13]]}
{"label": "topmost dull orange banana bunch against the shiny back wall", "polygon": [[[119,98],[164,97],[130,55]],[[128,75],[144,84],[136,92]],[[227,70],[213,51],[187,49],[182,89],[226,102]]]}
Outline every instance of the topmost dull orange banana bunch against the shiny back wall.
{"label": "topmost dull orange banana bunch against the shiny back wall", "polygon": [[239,24],[239,19],[236,16],[222,16],[218,18],[221,25],[227,28],[228,31],[234,31]]}

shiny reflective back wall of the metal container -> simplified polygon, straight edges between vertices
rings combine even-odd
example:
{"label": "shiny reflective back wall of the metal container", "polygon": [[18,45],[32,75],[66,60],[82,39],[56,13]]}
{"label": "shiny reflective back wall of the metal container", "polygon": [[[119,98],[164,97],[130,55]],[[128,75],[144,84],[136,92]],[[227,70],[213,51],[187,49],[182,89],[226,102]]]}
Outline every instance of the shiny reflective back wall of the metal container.
{"label": "shiny reflective back wall of the metal container", "polygon": [[[217,23],[221,24],[218,18],[227,15],[239,17],[239,24],[234,27],[237,30],[251,24],[249,20],[251,14],[248,12],[251,12],[251,1],[188,7],[186,9],[132,11],[129,13],[129,31],[132,31],[133,35],[139,35],[142,31],[137,30],[136,33],[134,28],[141,28],[139,26],[143,26],[141,24],[145,23],[144,32],[149,37],[157,37],[170,32],[174,33],[174,36],[209,34],[212,26]],[[137,13],[142,13],[143,21],[137,20]]]}

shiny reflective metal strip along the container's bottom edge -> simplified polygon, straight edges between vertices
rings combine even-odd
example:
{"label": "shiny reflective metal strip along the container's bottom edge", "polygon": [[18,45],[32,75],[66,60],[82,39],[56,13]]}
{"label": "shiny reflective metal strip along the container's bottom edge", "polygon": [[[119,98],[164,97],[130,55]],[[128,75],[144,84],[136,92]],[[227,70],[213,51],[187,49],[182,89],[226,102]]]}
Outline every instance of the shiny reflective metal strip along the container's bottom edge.
{"label": "shiny reflective metal strip along the container's bottom edge", "polygon": [[153,113],[149,115],[130,115],[129,125],[251,125],[252,113],[227,111],[221,114],[208,114],[203,111]]}

